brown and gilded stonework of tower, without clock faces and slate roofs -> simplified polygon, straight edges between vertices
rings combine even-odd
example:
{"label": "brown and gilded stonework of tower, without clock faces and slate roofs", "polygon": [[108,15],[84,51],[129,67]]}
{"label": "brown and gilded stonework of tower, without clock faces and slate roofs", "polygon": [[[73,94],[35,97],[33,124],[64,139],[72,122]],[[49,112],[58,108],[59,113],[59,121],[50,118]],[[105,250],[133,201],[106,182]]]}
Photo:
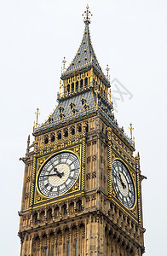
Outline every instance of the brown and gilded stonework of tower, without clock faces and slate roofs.
{"label": "brown and gilded stonework of tower, without clock faces and slate roofs", "polygon": [[[88,20],[84,20],[86,26]],[[79,69],[78,73],[73,74],[73,80],[62,76],[64,95],[60,96],[60,104],[75,94],[82,94],[85,89],[81,86],[88,86],[87,92],[95,91],[95,111],[89,112],[90,108],[86,107],[79,116],[78,109],[77,113],[72,113],[72,118],[60,116],[59,123],[51,117],[47,124],[34,130],[32,145],[28,137],[26,157],[20,159],[25,164],[19,212],[20,256],[141,256],[145,250],[145,229],[139,154],[133,156],[133,143],[118,128],[112,115],[109,117],[101,107],[100,103],[105,102],[107,108],[112,109],[107,101],[109,85],[102,74],[97,77],[92,67],[89,71]],[[83,85],[80,83],[82,74]],[[71,95],[70,92],[65,94],[68,83]],[[84,98],[82,101],[79,104],[85,104]],[[71,102],[74,106],[73,98]],[[87,103],[89,106],[88,100]],[[71,107],[68,104],[66,108]],[[65,110],[61,106],[60,112],[65,113]],[[50,198],[39,191],[37,177],[45,163],[61,152],[71,152],[78,157],[80,172],[76,183],[64,195]],[[131,208],[124,207],[114,189],[114,160],[127,166],[134,183],[135,203]],[[124,189],[123,181],[120,185]]]}

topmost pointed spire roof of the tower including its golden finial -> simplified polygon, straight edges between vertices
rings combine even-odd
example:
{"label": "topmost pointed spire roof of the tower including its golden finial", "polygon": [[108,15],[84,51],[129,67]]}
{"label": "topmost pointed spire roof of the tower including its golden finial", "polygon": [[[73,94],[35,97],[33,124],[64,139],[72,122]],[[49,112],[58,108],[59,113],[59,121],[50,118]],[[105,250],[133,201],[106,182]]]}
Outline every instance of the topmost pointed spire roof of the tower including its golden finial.
{"label": "topmost pointed spire roof of the tower including its golden finial", "polygon": [[95,51],[93,49],[91,39],[90,39],[89,15],[90,15],[89,7],[87,6],[87,10],[85,11],[85,17],[83,20],[85,23],[85,27],[84,27],[82,42],[78,48],[77,54],[72,60],[72,63],[66,69],[66,72],[62,74],[62,77],[66,76],[69,73],[75,72],[83,67],[90,67],[90,66],[96,67],[96,69],[100,73],[102,73],[101,67],[99,65],[99,62],[97,61]]}

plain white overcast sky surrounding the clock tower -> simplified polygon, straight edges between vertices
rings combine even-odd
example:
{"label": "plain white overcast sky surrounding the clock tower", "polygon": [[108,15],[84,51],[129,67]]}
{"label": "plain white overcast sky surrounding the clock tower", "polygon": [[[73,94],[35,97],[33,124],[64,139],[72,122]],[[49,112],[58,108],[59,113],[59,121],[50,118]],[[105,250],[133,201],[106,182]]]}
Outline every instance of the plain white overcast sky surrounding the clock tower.
{"label": "plain white overcast sky surrounding the clock tower", "polygon": [[[135,127],[141,154],[147,256],[167,255],[166,243],[166,64],[165,0],[6,0],[0,5],[1,84],[1,255],[19,255],[21,191],[26,139],[56,104],[63,56],[67,65],[83,36],[83,11],[89,3],[95,54],[111,79],[133,94],[118,102],[118,124]],[[31,137],[32,138],[32,137]]]}

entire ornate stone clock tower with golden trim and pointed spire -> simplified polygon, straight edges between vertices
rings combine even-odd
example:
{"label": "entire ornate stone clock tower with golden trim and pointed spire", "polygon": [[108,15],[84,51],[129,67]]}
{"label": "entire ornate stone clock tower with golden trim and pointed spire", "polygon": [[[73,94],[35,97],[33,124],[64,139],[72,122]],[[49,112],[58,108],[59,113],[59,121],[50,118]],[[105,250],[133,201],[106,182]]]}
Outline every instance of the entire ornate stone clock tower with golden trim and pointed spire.
{"label": "entire ornate stone clock tower with golden trim and pointed spire", "polygon": [[83,39],[63,67],[59,102],[27,141],[21,256],[141,256],[140,156],[118,126],[110,81],[93,49],[89,7]]}

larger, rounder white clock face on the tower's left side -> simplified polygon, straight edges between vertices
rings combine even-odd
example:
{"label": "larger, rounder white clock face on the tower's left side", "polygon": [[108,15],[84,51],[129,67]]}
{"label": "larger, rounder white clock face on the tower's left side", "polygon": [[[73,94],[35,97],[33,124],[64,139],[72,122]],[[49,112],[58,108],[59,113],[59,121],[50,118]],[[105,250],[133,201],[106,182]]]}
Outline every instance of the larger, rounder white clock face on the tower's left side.
{"label": "larger, rounder white clock face on the tower's left side", "polygon": [[63,152],[49,159],[37,178],[38,189],[48,197],[60,196],[77,181],[80,163],[75,154]]}

